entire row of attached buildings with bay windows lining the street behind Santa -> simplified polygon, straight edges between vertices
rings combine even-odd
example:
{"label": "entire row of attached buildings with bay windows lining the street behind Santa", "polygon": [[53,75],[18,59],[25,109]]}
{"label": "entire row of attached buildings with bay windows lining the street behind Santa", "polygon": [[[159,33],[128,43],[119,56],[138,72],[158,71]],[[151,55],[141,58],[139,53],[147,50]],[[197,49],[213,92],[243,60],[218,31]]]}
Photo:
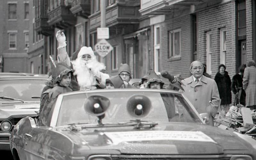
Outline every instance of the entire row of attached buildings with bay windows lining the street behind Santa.
{"label": "entire row of attached buildings with bay windows lining the street behind Santa", "polygon": [[[114,49],[103,59],[95,54],[110,75],[128,63],[133,78],[149,69],[188,77],[190,63],[200,60],[212,78],[220,64],[232,77],[241,64],[256,58],[255,8],[255,0],[107,0],[108,42]],[[49,70],[49,55],[57,60],[59,29],[66,35],[70,57],[81,46],[94,49],[99,41],[100,0],[37,0],[33,12],[36,33],[45,37],[32,43],[35,48],[29,48],[28,56],[30,65],[33,57],[38,59],[42,73]],[[31,36],[30,41],[37,37]]]}

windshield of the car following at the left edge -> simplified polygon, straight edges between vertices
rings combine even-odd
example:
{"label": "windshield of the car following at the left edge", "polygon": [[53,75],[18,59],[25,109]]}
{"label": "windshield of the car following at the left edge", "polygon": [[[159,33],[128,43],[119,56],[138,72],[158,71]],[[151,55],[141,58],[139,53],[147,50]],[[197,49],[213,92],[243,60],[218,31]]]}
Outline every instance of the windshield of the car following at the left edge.
{"label": "windshield of the car following at the left edge", "polygon": [[[23,101],[40,101],[35,97],[40,97],[45,86],[44,79],[8,79],[0,80],[0,96],[11,97]],[[34,97],[34,98],[32,98]],[[0,99],[0,102],[16,101]]]}

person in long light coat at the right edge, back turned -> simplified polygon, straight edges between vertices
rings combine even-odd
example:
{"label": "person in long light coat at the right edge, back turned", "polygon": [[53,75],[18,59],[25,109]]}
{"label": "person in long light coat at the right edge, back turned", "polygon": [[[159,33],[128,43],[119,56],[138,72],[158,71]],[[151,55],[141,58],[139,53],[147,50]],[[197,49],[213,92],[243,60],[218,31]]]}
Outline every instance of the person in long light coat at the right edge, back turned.
{"label": "person in long light coat at the right edge, back turned", "polygon": [[256,68],[254,60],[249,60],[244,69],[243,88],[246,92],[245,104],[256,109]]}

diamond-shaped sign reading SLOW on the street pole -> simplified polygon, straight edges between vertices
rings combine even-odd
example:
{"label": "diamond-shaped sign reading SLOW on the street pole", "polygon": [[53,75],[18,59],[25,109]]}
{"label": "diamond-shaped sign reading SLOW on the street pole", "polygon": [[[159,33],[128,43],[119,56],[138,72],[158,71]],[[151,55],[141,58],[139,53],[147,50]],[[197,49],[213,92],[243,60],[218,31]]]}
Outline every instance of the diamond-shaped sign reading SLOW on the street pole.
{"label": "diamond-shaped sign reading SLOW on the street pole", "polygon": [[103,58],[113,50],[113,47],[108,43],[108,41],[106,41],[106,39],[101,39],[97,44],[95,44],[94,49],[100,57]]}

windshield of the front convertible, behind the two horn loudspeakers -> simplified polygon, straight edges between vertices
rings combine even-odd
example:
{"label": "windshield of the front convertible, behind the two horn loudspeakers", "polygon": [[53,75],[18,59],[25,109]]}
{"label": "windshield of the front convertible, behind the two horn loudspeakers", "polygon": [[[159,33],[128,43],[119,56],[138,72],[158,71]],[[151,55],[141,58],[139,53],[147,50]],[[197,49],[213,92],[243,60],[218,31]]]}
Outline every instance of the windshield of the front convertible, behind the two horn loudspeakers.
{"label": "windshield of the front convertible, behind the two horn loudspeakers", "polygon": [[[67,95],[61,102],[57,126],[79,123],[97,123],[97,117],[85,112],[84,101],[93,95],[108,98],[110,106],[102,123],[129,122],[136,119],[126,110],[128,100],[134,95],[146,96],[151,103],[147,116],[141,120],[153,122],[202,123],[187,101],[178,93],[168,92],[98,92]],[[131,106],[130,106],[131,107]]]}

